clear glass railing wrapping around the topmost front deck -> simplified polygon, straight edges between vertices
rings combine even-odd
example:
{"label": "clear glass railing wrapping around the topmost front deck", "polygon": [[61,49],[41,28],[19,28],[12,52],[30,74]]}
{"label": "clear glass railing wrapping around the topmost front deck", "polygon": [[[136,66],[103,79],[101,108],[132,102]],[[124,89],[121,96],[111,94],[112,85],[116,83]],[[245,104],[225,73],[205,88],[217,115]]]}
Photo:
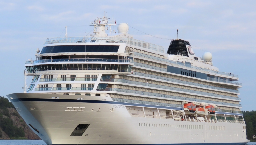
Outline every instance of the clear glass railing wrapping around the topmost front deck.
{"label": "clear glass railing wrapping around the topmost front deck", "polygon": [[88,42],[103,42],[103,43],[126,43],[142,48],[154,50],[157,52],[164,53],[163,46],[148,43],[145,41],[129,38],[129,37],[58,37],[58,38],[47,38],[44,44],[55,44],[55,43],[88,43]]}

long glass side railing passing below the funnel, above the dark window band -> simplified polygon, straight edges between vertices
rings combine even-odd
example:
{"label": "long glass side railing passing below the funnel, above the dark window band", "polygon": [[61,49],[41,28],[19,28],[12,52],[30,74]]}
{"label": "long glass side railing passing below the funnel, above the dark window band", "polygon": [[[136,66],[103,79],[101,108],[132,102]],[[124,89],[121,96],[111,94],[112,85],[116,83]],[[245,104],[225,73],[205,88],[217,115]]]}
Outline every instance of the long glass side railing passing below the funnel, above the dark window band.
{"label": "long glass side railing passing below the funnel, above the dark window band", "polygon": [[197,70],[200,70],[200,71],[205,71],[205,72],[210,72],[210,73],[214,73],[214,74],[226,75],[226,76],[232,76],[232,77],[237,77],[238,78],[238,75],[225,73],[225,72],[218,72],[218,71],[205,69],[205,68],[201,68],[201,67],[196,67],[196,66],[192,66],[192,65],[189,65],[189,64],[185,64],[185,63],[179,63],[178,61],[168,60],[168,59],[155,57],[155,56],[147,55],[147,54],[143,54],[143,53],[134,52],[134,55],[145,57],[145,58],[150,58],[150,59],[154,59],[154,60],[159,60],[159,61],[163,61],[163,62],[167,62],[167,63],[171,63],[171,64],[176,64],[176,65],[187,67],[187,68],[197,69]]}

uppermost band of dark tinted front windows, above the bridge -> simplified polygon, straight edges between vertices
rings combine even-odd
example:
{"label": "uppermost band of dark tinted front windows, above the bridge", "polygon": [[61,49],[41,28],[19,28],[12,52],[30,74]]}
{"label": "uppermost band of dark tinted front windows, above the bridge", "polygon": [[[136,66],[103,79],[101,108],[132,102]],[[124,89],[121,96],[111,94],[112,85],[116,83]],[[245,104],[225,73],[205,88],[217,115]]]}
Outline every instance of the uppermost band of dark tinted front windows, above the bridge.
{"label": "uppermost band of dark tinted front windows, above the bridge", "polygon": [[60,53],[60,52],[117,52],[118,45],[63,45],[63,46],[46,46],[43,47],[43,53]]}

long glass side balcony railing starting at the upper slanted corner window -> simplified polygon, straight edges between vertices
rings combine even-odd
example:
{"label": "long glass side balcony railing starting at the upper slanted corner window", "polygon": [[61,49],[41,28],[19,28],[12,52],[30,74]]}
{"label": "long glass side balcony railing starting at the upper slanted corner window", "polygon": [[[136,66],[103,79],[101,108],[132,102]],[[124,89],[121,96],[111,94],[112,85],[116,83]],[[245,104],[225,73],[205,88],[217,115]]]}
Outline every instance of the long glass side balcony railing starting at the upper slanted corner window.
{"label": "long glass side balcony railing starting at the upper slanted corner window", "polygon": [[109,81],[110,82],[128,83],[128,84],[134,84],[134,85],[142,85],[142,86],[161,88],[161,89],[168,89],[168,90],[175,90],[175,91],[183,91],[183,92],[189,92],[189,93],[197,93],[197,94],[207,95],[207,96],[214,96],[214,97],[221,97],[221,98],[241,100],[241,98],[238,98],[238,97],[219,95],[219,94],[215,94],[215,93],[208,93],[208,92],[202,92],[202,91],[196,91],[196,90],[175,88],[175,87],[169,87],[169,86],[163,86],[163,85],[156,85],[156,84],[150,84],[150,83],[144,83],[144,82],[130,81],[130,80],[127,80],[127,79],[111,78]]}

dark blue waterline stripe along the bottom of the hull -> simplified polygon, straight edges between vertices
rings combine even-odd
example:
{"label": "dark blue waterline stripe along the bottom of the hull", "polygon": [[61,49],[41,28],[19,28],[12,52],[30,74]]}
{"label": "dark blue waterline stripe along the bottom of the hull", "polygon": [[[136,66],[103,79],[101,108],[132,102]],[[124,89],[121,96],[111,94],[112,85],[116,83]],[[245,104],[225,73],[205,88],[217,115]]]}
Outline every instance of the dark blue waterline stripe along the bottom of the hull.
{"label": "dark blue waterline stripe along the bottom of the hull", "polygon": [[[122,145],[245,145],[246,143],[122,144]],[[53,145],[119,145],[119,144],[53,144]]]}

